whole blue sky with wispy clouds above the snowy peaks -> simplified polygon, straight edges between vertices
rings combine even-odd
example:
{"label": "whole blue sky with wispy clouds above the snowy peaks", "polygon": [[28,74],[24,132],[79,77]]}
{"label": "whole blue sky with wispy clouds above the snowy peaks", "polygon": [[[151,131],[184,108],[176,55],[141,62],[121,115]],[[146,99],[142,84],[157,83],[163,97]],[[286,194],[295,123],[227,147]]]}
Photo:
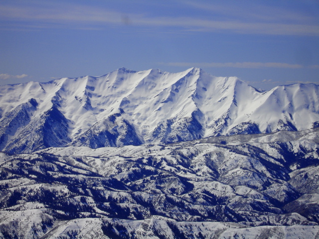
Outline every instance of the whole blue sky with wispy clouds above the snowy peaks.
{"label": "whole blue sky with wispy clouds above the snowy peaks", "polygon": [[319,84],[319,1],[0,1],[0,85],[193,66]]}

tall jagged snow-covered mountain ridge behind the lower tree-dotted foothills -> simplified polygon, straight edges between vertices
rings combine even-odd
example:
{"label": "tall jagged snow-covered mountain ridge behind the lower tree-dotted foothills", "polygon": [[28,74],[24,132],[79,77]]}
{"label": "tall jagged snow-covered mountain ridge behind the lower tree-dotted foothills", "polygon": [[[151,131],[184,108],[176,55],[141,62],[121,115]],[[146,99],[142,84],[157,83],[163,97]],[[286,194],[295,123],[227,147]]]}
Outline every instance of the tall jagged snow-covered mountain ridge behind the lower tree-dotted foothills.
{"label": "tall jagged snow-covered mountain ridge behind the lower tree-dotted foothills", "polygon": [[120,68],[100,77],[0,86],[0,150],[163,144],[319,125],[319,86],[260,92],[236,77]]}

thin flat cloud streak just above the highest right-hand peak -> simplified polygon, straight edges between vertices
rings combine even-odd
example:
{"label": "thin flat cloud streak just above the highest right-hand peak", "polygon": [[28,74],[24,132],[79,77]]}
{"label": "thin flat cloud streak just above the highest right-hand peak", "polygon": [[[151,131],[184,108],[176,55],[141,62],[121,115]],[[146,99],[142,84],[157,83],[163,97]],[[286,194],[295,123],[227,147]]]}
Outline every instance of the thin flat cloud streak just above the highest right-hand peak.
{"label": "thin flat cloud streak just above the highest right-hand peak", "polygon": [[299,69],[303,68],[302,65],[299,64],[289,64],[289,63],[281,63],[281,62],[227,62],[227,63],[219,63],[219,62],[169,62],[169,63],[161,63],[163,65],[168,66],[180,66],[180,67],[205,67],[205,68],[221,68],[221,67],[232,67],[232,68],[291,68],[291,69]]}

